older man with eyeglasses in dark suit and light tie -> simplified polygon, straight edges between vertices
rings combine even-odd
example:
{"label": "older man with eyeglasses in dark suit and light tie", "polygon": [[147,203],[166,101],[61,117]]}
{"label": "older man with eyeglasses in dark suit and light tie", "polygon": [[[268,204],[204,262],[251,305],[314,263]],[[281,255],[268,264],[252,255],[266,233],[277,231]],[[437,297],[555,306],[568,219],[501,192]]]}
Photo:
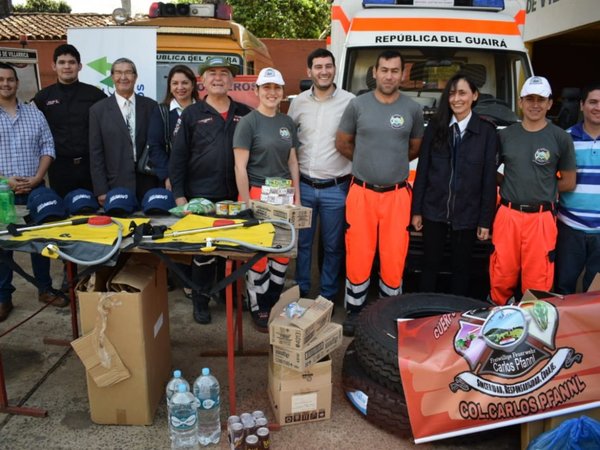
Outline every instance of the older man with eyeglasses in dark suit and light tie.
{"label": "older man with eyeglasses in dark suit and light tie", "polygon": [[155,176],[136,171],[157,104],[134,93],[137,69],[130,59],[117,59],[110,73],[115,93],[90,108],[90,170],[101,205],[111,189],[127,188],[141,201],[146,191],[158,186]]}

